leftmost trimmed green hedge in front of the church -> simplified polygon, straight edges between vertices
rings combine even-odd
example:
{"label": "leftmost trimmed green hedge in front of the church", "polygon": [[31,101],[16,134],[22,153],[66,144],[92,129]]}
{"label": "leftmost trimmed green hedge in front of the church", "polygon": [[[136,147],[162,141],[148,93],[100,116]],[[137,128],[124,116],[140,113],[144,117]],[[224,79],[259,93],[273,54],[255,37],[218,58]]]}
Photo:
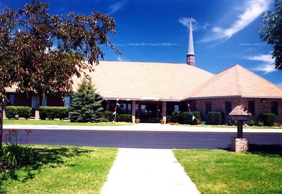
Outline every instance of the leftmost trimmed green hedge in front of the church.
{"label": "leftmost trimmed green hedge in front of the church", "polygon": [[16,115],[28,119],[32,116],[32,108],[28,106],[6,106],[5,116],[7,118],[16,118]]}

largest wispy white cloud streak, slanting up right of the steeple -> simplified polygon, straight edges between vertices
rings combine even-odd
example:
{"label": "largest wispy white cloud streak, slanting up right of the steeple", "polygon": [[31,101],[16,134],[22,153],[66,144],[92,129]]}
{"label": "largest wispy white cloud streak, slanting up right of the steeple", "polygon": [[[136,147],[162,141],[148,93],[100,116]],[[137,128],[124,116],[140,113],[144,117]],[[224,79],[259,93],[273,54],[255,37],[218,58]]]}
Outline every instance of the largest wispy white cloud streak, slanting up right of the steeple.
{"label": "largest wispy white cloud streak, slanting up right of the steeple", "polygon": [[237,20],[235,20],[229,28],[221,28],[216,26],[212,29],[213,34],[204,38],[202,42],[211,42],[220,40],[224,42],[231,38],[235,33],[246,28],[252,21],[267,10],[270,6],[271,0],[247,0],[243,5],[243,12],[239,14]]}

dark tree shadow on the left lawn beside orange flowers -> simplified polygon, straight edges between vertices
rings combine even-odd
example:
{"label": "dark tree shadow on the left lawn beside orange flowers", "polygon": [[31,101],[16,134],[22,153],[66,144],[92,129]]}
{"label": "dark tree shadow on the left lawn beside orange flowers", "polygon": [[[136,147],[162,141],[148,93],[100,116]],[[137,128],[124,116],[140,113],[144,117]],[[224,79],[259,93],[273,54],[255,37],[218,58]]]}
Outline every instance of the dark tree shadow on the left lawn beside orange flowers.
{"label": "dark tree shadow on the left lawn beside orange flowers", "polygon": [[[79,147],[60,147],[60,148],[35,148],[34,154],[35,159],[33,164],[23,166],[20,171],[21,174],[24,174],[24,177],[20,178],[21,182],[25,182],[28,179],[34,178],[35,170],[39,170],[43,165],[49,165],[50,168],[54,168],[57,164],[64,164],[65,158],[72,158],[80,155],[85,155],[86,153],[91,152],[91,150],[79,148]],[[0,182],[3,180],[13,179],[19,180],[18,170],[9,170],[2,172],[0,174]],[[0,193],[1,186],[0,186]]]}

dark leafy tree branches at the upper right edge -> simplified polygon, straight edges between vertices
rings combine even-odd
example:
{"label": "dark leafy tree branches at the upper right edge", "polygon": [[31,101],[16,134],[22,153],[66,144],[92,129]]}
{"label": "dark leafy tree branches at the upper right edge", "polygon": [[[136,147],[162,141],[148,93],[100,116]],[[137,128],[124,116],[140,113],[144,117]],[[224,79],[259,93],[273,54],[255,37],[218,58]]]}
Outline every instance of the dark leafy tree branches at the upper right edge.
{"label": "dark leafy tree branches at the upper right edge", "polygon": [[263,26],[259,29],[260,38],[267,45],[273,45],[272,58],[275,68],[282,70],[282,0],[274,0],[275,11],[264,14]]}

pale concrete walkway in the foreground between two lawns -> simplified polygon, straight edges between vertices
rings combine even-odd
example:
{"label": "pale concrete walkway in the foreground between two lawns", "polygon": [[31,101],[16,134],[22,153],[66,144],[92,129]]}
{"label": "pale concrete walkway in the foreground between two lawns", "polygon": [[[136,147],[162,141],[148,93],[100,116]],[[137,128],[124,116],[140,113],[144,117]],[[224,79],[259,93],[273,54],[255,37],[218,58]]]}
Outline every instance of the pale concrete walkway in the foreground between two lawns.
{"label": "pale concrete walkway in the foreground between two lawns", "polygon": [[120,148],[101,194],[199,194],[169,149]]}

